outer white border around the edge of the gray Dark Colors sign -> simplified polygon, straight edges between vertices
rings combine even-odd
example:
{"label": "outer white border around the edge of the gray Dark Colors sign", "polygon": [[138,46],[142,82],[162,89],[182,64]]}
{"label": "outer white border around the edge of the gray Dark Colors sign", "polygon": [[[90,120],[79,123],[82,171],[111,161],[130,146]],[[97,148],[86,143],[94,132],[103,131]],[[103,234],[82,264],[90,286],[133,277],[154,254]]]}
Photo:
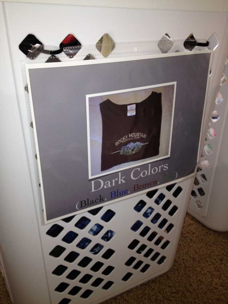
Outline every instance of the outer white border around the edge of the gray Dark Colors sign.
{"label": "outer white border around the edge of the gray Dark Colors sign", "polygon": [[[52,223],[52,222],[57,221],[59,219],[64,219],[65,217],[68,217],[68,216],[83,213],[85,211],[95,209],[96,207],[93,206],[91,208],[76,210],[75,212],[71,212],[71,213],[65,214],[63,216],[59,216],[57,218],[47,220],[46,206],[45,206],[45,199],[44,199],[44,191],[43,191],[43,180],[42,180],[42,173],[41,173],[41,166],[40,166],[40,153],[39,153],[39,146],[38,146],[38,140],[37,140],[37,134],[36,134],[36,122],[35,122],[35,115],[34,115],[34,110],[33,110],[33,98],[32,98],[31,85],[30,85],[29,70],[30,69],[31,70],[32,69],[40,69],[40,68],[50,68],[50,67],[71,67],[71,66],[87,65],[87,64],[105,64],[105,63],[111,63],[111,62],[122,62],[122,61],[141,60],[141,59],[153,59],[153,58],[161,58],[161,57],[188,56],[188,55],[192,55],[192,54],[205,54],[205,53],[210,53],[211,55],[210,55],[210,62],[209,62],[209,67],[208,67],[206,94],[205,94],[205,100],[204,100],[204,108],[203,108],[202,123],[201,123],[200,138],[199,138],[199,148],[198,148],[198,158],[197,158],[197,163],[198,163],[199,153],[200,153],[200,143],[201,143],[201,138],[202,138],[202,126],[203,126],[203,121],[204,121],[204,118],[205,118],[206,100],[207,100],[207,97],[208,97],[209,74],[210,74],[210,67],[211,67],[211,61],[212,61],[212,50],[200,50],[200,51],[191,51],[191,52],[177,52],[177,53],[143,55],[143,56],[130,56],[130,57],[117,57],[117,58],[110,58],[110,59],[77,60],[77,61],[68,61],[68,62],[25,64],[26,77],[27,77],[27,82],[28,82],[30,110],[31,110],[31,115],[32,115],[32,119],[33,119],[33,131],[34,131],[34,140],[35,140],[35,145],[36,145],[38,170],[39,170],[39,176],[40,176],[40,189],[41,189],[41,197],[42,197],[42,202],[41,203],[43,205],[44,223],[45,224]],[[196,165],[196,168],[197,168],[197,165]],[[174,180],[174,181],[175,182],[181,182],[181,181],[184,181],[184,180],[186,180],[186,179],[188,179],[188,178],[190,178],[194,175],[195,175],[195,172],[190,174],[190,175],[187,175],[183,178],[179,178],[177,180]],[[169,185],[169,184],[173,183],[174,181],[171,181],[171,182],[168,182],[168,183],[162,184],[162,185],[157,185],[155,187],[150,188],[150,190],[153,189],[153,188],[165,187],[166,185]],[[148,189],[141,190],[139,192],[129,194],[129,195],[127,195],[127,197],[140,195],[140,194],[148,192],[148,191],[149,191]],[[123,197],[123,198],[119,198],[119,199],[117,198],[117,199],[105,202],[105,203],[102,204],[102,206],[112,204],[114,202],[123,200],[125,198],[126,198],[126,196]]]}

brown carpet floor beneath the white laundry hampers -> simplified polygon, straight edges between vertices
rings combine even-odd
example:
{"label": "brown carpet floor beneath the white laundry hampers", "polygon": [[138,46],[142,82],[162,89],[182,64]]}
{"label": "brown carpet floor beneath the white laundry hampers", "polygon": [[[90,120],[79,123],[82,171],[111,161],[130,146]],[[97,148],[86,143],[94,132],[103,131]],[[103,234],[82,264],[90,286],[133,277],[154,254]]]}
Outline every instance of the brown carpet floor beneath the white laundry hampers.
{"label": "brown carpet floor beneath the white laundry hampers", "polygon": [[[0,304],[10,303],[0,275]],[[104,302],[138,303],[228,304],[228,233],[212,231],[187,215],[170,271]]]}

